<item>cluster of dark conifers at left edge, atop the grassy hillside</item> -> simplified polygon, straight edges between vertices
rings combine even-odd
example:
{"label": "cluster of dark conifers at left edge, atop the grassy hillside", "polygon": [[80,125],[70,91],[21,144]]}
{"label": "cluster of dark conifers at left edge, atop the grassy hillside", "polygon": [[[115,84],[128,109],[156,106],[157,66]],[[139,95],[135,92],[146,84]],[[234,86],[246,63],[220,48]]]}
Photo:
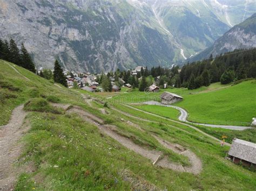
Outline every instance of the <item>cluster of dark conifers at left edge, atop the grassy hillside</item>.
{"label": "cluster of dark conifers at left edge, atop the grassy hillside", "polygon": [[14,39],[10,41],[0,39],[0,59],[15,63],[18,66],[36,73],[35,64],[24,44],[22,43],[21,49],[19,49]]}

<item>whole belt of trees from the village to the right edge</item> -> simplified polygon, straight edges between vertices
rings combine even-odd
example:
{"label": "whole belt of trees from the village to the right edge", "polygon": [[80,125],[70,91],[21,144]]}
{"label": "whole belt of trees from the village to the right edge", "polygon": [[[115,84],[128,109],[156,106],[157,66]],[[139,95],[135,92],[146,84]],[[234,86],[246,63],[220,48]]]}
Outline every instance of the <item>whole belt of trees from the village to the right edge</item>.
{"label": "whole belt of trees from the village to the right edge", "polygon": [[[130,83],[133,88],[144,91],[153,82],[160,88],[164,84],[176,88],[196,89],[201,86],[210,86],[211,83],[221,82],[227,84],[233,81],[256,77],[256,48],[237,49],[210,58],[186,63],[183,67],[174,66],[172,68],[152,67],[141,68],[132,75],[131,70],[108,73],[107,77],[123,79],[125,83]],[[116,84],[122,86],[117,80]]]}

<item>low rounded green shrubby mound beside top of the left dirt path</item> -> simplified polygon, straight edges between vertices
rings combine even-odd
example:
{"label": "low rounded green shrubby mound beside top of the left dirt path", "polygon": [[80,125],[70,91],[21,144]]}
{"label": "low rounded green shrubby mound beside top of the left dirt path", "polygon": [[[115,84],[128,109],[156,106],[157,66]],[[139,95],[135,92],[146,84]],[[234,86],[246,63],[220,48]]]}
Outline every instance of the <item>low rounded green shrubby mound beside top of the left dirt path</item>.
{"label": "low rounded green shrubby mound beside top of the left dirt path", "polygon": [[54,108],[43,98],[33,98],[24,105],[25,111],[51,112],[53,114],[64,114],[63,109]]}

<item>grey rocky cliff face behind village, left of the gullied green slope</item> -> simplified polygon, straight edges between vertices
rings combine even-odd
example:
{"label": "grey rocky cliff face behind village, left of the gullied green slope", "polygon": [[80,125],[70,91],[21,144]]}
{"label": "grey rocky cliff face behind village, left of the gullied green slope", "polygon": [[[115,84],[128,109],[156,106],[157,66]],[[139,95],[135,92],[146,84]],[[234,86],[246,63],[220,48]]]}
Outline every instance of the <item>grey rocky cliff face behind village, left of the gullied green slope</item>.
{"label": "grey rocky cliff face behind village, left of the gullied green slope", "polygon": [[0,3],[0,38],[24,42],[37,67],[52,68],[57,58],[66,69],[101,72],[167,65],[174,58],[166,35],[125,1]]}

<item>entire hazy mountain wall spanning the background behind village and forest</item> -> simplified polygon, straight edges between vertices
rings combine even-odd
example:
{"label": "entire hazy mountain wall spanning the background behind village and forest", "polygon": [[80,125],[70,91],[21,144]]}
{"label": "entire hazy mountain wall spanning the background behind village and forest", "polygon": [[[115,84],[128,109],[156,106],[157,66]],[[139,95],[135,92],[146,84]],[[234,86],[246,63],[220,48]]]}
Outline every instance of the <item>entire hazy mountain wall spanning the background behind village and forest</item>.
{"label": "entire hazy mountain wall spanning the background behind village and forest", "polygon": [[24,41],[37,67],[52,68],[55,58],[90,72],[170,66],[210,47],[255,9],[254,0],[3,0],[0,38]]}

